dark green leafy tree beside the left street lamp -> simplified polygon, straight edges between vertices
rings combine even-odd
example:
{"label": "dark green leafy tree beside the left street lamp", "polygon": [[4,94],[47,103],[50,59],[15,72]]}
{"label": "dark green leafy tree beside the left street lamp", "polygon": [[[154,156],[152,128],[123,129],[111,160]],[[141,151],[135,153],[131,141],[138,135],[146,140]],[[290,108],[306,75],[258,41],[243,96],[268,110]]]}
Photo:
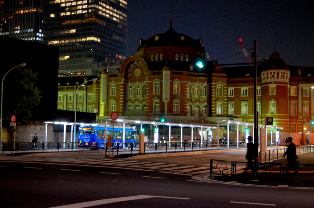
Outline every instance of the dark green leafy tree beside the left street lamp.
{"label": "dark green leafy tree beside the left street lamp", "polygon": [[8,73],[3,82],[3,121],[12,114],[17,123],[29,121],[41,99],[36,83],[37,73],[31,69],[16,68]]}

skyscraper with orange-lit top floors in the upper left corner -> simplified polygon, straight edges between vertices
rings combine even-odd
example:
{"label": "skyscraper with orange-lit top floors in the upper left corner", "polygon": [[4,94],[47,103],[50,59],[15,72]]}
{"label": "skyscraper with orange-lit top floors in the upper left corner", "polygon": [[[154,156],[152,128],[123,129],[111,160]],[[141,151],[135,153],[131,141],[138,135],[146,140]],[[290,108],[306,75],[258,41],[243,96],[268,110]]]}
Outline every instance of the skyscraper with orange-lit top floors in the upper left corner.
{"label": "skyscraper with orange-lit top floors in the upper left corner", "polygon": [[0,35],[41,43],[43,0],[0,1]]}

